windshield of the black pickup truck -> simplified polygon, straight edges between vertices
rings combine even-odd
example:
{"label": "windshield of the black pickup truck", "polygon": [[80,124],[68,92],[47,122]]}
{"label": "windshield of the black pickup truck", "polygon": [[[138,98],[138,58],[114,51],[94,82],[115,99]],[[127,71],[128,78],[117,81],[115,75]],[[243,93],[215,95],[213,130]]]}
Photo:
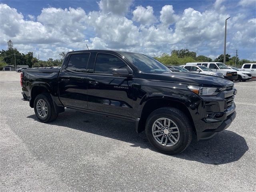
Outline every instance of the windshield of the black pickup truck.
{"label": "windshield of the black pickup truck", "polygon": [[158,73],[171,72],[171,70],[164,64],[158,62],[154,58],[138,54],[138,53],[121,53],[129,62],[134,64],[140,71],[144,73]]}

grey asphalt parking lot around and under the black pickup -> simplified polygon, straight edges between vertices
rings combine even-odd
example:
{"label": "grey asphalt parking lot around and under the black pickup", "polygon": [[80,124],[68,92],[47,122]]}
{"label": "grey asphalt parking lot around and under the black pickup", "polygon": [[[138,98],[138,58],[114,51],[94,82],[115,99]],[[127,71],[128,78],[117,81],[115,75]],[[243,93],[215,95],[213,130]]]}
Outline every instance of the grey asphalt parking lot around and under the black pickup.
{"label": "grey asphalt parking lot around and under the black pickup", "polygon": [[67,109],[49,124],[0,72],[0,191],[256,191],[256,81],[235,82],[231,126],[182,154],[154,150],[135,124]]}

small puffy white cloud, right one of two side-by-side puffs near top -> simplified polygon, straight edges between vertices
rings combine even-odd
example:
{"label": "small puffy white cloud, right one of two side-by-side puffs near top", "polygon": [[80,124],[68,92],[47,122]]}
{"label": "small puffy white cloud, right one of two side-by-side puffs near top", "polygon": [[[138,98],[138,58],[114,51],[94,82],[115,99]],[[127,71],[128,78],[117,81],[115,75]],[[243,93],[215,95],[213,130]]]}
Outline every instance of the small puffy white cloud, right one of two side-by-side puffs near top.
{"label": "small puffy white cloud, right one of two side-by-side puffs near top", "polygon": [[169,26],[175,23],[178,18],[178,15],[174,14],[172,5],[165,5],[162,7],[162,10],[160,11],[160,21],[164,25]]}

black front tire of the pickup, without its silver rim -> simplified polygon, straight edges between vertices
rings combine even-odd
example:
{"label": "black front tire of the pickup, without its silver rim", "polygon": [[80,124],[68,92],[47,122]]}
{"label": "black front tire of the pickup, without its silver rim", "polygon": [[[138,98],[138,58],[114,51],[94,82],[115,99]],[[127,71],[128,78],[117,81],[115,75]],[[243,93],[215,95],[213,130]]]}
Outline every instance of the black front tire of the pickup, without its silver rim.
{"label": "black front tire of the pickup, without its silver rim", "polygon": [[[173,146],[163,146],[158,143],[152,134],[152,126],[159,118],[172,120],[179,129],[179,139]],[[172,107],[159,108],[152,112],[146,121],[146,136],[150,144],[165,154],[178,154],[184,151],[192,140],[192,125],[188,117],[180,110]]]}

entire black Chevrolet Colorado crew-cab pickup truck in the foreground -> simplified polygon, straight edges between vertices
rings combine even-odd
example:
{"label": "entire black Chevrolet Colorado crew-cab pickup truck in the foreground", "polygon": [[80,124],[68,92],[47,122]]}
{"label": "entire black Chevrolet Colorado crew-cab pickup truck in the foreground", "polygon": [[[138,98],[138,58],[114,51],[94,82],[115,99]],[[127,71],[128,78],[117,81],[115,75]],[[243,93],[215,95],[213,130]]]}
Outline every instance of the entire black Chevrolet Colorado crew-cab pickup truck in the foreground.
{"label": "entire black Chevrolet Colorado crew-cab pickup truck in the foreground", "polygon": [[[212,138],[234,120],[234,84],[221,77],[171,72],[150,56],[82,50],[66,54],[61,68],[21,74],[23,100],[41,122],[73,108],[136,122],[157,150],[177,154]],[[117,127],[118,129],[118,127]]]}

